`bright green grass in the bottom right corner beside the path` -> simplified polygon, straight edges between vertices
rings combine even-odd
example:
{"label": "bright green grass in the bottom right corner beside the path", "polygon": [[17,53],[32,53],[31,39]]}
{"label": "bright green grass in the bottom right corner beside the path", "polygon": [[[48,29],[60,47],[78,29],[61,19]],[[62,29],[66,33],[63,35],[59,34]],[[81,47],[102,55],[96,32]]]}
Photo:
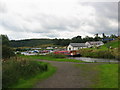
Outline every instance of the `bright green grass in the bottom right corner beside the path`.
{"label": "bright green grass in the bottom right corner beside the path", "polygon": [[118,64],[104,64],[98,66],[99,82],[94,88],[118,88]]}

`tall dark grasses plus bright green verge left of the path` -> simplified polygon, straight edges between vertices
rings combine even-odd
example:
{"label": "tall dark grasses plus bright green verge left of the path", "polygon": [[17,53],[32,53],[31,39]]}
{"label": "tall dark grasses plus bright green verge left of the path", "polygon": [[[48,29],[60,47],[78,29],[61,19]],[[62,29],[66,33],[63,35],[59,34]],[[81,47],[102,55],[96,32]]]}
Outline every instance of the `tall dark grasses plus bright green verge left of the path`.
{"label": "tall dark grasses plus bright green verge left of the path", "polygon": [[30,58],[13,57],[2,62],[2,88],[31,88],[51,76],[56,68]]}

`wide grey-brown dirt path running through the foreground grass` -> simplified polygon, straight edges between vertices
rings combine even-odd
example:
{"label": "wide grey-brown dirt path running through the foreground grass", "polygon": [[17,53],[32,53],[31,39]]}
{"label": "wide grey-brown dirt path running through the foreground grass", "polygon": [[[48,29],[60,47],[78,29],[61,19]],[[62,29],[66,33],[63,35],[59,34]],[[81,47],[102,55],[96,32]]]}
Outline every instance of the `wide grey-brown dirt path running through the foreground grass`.
{"label": "wide grey-brown dirt path running through the foreground grass", "polygon": [[35,88],[90,88],[95,83],[94,77],[98,74],[98,71],[91,70],[97,64],[87,64],[89,70],[86,71],[86,69],[77,67],[77,63],[44,62],[57,67],[57,71],[50,78],[39,82]]}

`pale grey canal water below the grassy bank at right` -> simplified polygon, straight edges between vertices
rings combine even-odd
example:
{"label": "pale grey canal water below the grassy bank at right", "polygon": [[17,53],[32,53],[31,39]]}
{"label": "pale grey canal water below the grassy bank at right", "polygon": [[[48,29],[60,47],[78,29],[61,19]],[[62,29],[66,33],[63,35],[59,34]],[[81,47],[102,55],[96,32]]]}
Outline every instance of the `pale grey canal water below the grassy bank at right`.
{"label": "pale grey canal water below the grassy bank at right", "polygon": [[76,59],[85,62],[118,62],[116,59],[101,59],[101,58],[89,58],[89,57],[69,57],[69,59]]}

